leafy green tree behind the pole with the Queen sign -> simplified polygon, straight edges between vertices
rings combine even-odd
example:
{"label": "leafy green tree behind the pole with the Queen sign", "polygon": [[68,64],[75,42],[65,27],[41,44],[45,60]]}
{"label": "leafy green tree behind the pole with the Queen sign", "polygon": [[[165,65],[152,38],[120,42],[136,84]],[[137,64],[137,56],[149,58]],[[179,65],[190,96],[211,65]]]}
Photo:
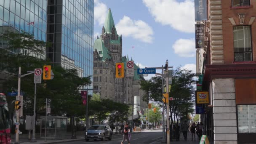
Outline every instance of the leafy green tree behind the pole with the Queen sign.
{"label": "leafy green tree behind the pole with the Queen sign", "polygon": [[[169,93],[169,97],[173,97],[173,101],[169,102],[172,123],[178,120],[178,117],[187,117],[189,113],[194,112],[195,76],[196,74],[192,73],[191,70],[181,69],[180,67],[173,70],[171,91]],[[162,77],[156,76],[150,80],[142,80],[141,89],[146,91],[146,94],[143,96],[144,100],[151,100],[162,104]]]}

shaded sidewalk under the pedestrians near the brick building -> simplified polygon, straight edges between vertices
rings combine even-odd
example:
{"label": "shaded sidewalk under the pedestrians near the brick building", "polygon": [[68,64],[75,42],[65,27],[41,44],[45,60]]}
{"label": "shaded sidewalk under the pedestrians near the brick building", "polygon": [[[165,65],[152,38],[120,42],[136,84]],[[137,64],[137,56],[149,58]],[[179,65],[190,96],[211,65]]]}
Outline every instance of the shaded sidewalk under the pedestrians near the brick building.
{"label": "shaded sidewalk under the pedestrians near the brick building", "polygon": [[[195,141],[196,139],[196,141]],[[195,139],[192,141],[192,134],[190,131],[187,132],[187,141],[185,141],[183,133],[180,133],[179,141],[176,141],[176,139],[172,139],[170,142],[171,144],[199,144],[199,140],[197,138],[197,135],[195,136]],[[159,141],[155,141],[151,144],[166,144],[163,139],[160,139]]]}

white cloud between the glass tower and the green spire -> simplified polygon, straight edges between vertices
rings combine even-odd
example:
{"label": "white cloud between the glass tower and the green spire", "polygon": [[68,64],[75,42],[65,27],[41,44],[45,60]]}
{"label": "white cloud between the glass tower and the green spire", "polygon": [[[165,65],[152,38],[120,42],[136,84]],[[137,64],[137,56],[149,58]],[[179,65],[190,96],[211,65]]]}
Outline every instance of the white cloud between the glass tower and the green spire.
{"label": "white cloud between the glass tower and the green spire", "polygon": [[99,0],[94,0],[94,24],[100,26],[104,24],[107,16],[107,5],[101,3]]}

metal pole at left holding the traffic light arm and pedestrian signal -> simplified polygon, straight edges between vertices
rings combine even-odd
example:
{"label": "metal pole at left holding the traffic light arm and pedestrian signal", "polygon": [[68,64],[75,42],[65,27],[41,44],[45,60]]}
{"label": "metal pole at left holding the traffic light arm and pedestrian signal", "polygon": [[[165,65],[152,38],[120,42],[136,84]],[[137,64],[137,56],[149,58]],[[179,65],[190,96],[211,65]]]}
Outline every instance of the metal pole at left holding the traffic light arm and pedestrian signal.
{"label": "metal pole at left holding the traffic light arm and pedestrian signal", "polygon": [[[19,75],[18,75],[18,96],[16,100],[19,101],[21,96],[21,67],[19,67]],[[15,144],[19,144],[19,110],[16,110],[16,133],[15,133]]]}

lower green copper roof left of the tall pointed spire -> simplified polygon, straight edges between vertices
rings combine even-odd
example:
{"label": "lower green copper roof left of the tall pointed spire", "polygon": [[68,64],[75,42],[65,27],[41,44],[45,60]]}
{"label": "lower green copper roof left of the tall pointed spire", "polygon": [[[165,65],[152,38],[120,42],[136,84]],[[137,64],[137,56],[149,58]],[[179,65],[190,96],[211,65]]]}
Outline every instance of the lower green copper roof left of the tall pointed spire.
{"label": "lower green copper roof left of the tall pointed spire", "polygon": [[99,56],[102,58],[103,61],[105,61],[105,59],[107,58],[111,59],[111,57],[109,56],[109,51],[104,46],[103,40],[101,40],[101,38],[95,40],[93,51],[96,51],[96,50],[98,51]]}

